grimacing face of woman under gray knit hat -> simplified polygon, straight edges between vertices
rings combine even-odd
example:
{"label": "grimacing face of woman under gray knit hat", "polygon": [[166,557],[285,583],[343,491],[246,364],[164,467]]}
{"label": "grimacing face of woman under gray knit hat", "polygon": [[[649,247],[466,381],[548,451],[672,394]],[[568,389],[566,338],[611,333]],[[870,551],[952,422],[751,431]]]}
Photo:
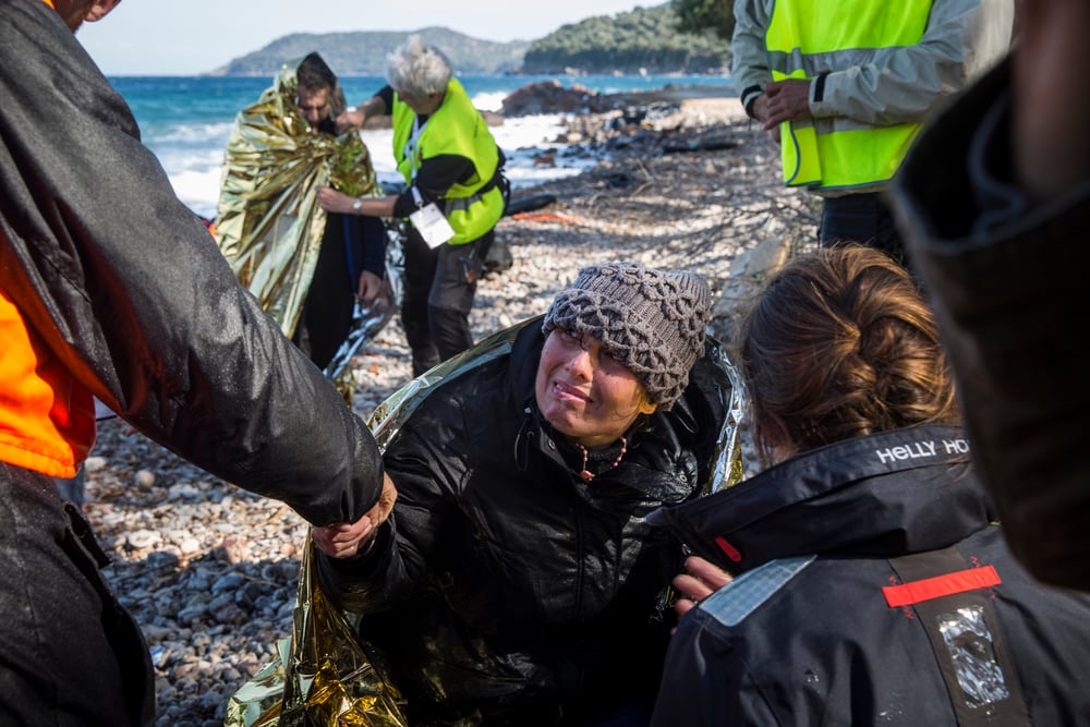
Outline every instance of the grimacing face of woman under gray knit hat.
{"label": "grimacing face of woman under gray knit hat", "polygon": [[560,328],[545,339],[534,392],[545,421],[584,447],[617,441],[637,416],[655,411],[635,375],[601,342]]}

